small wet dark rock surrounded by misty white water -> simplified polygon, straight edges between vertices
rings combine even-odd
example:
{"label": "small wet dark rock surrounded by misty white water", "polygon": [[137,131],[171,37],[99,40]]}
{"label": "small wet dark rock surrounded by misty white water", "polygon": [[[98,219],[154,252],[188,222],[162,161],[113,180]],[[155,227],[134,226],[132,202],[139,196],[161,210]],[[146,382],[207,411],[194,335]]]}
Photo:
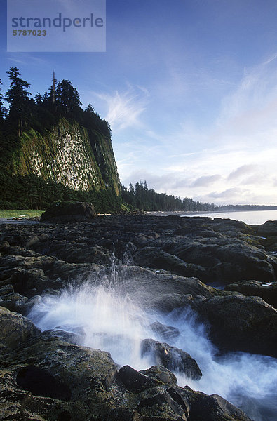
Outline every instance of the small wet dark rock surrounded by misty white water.
{"label": "small wet dark rock surrounded by misty white water", "polygon": [[142,356],[152,354],[157,365],[165,366],[169,370],[184,373],[192,380],[200,380],[202,373],[195,359],[182,349],[171,347],[153,339],[144,339],[141,344]]}

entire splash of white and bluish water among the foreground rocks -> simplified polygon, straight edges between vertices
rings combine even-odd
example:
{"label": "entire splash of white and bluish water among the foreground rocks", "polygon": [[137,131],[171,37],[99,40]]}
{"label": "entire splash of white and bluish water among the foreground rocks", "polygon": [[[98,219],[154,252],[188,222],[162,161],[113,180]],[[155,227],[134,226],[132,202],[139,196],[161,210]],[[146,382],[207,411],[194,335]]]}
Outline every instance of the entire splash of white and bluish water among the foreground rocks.
{"label": "entire splash of white and bluish water among the foreground rocks", "polygon": [[[243,352],[217,357],[205,328],[187,309],[168,315],[147,312],[119,282],[86,283],[61,295],[43,296],[32,307],[29,319],[41,330],[78,332],[79,345],[108,351],[120,366],[128,364],[137,370],[154,365],[153,357],[141,355],[143,339],[168,342],[191,354],[203,373],[199,381],[175,373],[181,387],[219,394],[255,421],[276,420],[277,360]],[[174,326],[180,335],[161,338],[150,327],[154,321]]]}

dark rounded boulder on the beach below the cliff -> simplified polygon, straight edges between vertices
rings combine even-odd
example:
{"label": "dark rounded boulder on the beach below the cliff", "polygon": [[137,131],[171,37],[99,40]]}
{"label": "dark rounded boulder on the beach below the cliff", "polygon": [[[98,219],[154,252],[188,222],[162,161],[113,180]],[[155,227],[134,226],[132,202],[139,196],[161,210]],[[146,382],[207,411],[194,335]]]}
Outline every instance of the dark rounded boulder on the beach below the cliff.
{"label": "dark rounded boulder on the beach below the cliff", "polygon": [[41,222],[90,222],[96,218],[93,205],[84,202],[57,202],[41,215]]}

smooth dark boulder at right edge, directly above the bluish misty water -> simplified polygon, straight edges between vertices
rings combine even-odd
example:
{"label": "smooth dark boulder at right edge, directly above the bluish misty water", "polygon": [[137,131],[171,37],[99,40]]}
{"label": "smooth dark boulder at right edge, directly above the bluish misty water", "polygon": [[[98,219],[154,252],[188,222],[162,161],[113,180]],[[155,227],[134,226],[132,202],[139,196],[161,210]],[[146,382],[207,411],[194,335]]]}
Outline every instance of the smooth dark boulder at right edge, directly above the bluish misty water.
{"label": "smooth dark boulder at right edge, directly above the bluish misty water", "polygon": [[198,308],[210,322],[210,339],[222,352],[277,356],[277,311],[259,297],[208,298]]}

